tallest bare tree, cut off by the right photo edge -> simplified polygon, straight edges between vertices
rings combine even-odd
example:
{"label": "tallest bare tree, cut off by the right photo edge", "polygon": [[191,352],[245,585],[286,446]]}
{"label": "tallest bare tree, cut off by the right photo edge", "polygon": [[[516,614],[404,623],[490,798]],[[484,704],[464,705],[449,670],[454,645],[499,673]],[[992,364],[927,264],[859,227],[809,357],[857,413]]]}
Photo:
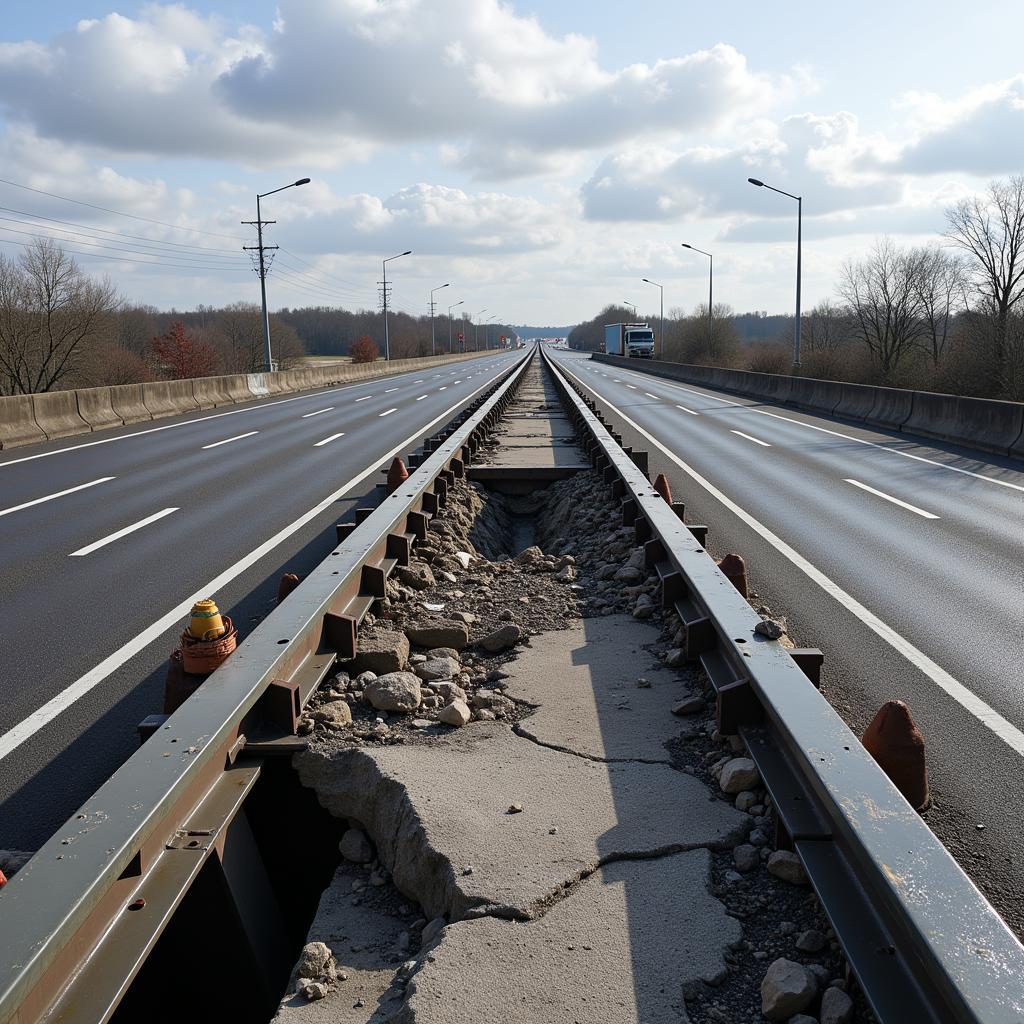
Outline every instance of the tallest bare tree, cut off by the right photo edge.
{"label": "tallest bare tree, cut off by the right photo edge", "polygon": [[1008,377],[1010,317],[1024,296],[1024,176],[993,181],[946,211],[946,238],[971,258],[983,304],[995,318],[995,373]]}

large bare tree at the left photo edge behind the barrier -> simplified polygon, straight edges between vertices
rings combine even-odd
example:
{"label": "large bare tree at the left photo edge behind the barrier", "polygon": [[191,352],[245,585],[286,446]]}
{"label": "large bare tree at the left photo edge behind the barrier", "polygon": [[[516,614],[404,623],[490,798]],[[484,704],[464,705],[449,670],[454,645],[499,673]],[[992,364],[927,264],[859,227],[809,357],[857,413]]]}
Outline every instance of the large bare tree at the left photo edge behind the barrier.
{"label": "large bare tree at the left photo edge behind the barrier", "polygon": [[35,239],[17,260],[0,255],[0,388],[49,391],[109,333],[114,287],[86,276],[49,239]]}

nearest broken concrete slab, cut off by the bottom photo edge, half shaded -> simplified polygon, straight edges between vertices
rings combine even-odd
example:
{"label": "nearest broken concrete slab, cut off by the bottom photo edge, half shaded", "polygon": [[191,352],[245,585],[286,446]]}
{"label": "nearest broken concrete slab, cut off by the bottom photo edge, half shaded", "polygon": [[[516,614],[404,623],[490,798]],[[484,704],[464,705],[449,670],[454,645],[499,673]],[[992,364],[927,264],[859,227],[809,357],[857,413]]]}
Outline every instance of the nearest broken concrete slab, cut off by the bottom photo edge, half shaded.
{"label": "nearest broken concrete slab, cut off by the bottom photo edge, half shaded", "polygon": [[680,1024],[684,986],[741,937],[709,892],[706,850],[608,864],[539,921],[450,925],[396,1024]]}

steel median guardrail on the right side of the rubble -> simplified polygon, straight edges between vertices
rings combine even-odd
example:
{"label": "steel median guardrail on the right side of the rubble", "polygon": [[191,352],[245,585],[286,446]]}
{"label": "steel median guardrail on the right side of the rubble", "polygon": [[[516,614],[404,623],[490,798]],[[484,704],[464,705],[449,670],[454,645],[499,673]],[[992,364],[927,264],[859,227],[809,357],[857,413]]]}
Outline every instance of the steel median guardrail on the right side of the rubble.
{"label": "steel median guardrail on the right side of the rubble", "polygon": [[624,450],[545,358],[879,1020],[1019,1024],[1024,947],[786,649],[755,633],[760,616],[651,486],[646,453]]}

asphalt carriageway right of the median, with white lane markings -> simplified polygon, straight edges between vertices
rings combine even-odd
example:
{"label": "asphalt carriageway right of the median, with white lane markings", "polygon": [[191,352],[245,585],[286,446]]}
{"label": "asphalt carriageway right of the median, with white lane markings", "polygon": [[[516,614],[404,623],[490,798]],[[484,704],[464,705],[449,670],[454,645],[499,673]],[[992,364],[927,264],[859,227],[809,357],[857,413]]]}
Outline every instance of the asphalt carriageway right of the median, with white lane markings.
{"label": "asphalt carriageway right of the median, with white lane markings", "polygon": [[825,653],[855,731],[907,701],[927,820],[1024,935],[1024,467],[559,352],[710,547]]}

